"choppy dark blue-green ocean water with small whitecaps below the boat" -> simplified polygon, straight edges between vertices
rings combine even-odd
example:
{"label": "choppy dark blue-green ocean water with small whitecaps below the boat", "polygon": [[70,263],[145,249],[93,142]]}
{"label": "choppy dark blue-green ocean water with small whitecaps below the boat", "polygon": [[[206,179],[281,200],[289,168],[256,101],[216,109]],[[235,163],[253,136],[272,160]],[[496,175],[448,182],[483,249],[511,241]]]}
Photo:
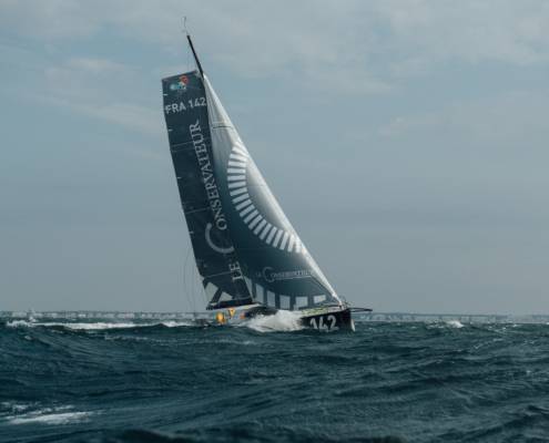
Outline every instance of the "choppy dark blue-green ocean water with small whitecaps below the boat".
{"label": "choppy dark blue-green ocean water with small whitecaps below the boat", "polygon": [[0,442],[547,442],[549,326],[0,323]]}

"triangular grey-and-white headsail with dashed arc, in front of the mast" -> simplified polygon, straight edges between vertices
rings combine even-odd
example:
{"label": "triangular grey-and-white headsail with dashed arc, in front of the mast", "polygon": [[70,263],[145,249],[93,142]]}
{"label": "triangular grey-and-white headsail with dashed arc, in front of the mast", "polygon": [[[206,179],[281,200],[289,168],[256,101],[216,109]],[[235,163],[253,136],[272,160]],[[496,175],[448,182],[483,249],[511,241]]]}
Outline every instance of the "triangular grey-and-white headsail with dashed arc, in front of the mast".
{"label": "triangular grey-and-white headsail with dashed arc, in front of the mast", "polygon": [[204,75],[214,175],[232,245],[255,301],[279,309],[342,305],[292,227]]}

